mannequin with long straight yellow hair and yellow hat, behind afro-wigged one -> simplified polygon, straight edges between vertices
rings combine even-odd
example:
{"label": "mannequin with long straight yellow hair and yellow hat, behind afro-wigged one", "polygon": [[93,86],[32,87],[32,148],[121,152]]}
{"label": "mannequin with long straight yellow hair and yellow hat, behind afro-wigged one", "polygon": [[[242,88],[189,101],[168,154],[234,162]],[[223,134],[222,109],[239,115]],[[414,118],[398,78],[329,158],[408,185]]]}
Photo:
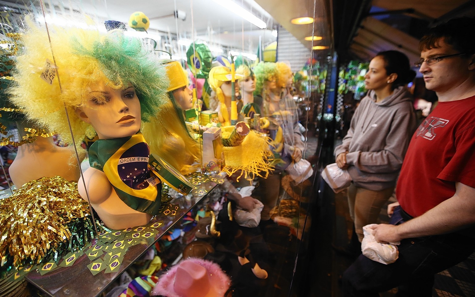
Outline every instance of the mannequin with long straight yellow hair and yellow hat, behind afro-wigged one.
{"label": "mannequin with long straight yellow hair and yellow hat, behind afro-wigged one", "polygon": [[161,105],[156,116],[142,125],[142,134],[150,152],[161,156],[170,165],[187,175],[199,168],[199,143],[189,134],[183,111],[193,107],[188,77],[178,61],[162,62],[170,84],[168,100]]}

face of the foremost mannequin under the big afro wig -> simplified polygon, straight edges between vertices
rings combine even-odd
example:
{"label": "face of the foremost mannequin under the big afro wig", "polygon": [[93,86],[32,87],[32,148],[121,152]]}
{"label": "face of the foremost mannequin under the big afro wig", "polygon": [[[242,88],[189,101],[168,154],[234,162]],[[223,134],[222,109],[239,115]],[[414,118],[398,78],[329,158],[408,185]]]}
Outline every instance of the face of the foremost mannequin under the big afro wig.
{"label": "face of the foremost mannequin under the big afro wig", "polygon": [[117,90],[100,82],[87,88],[86,98],[76,115],[94,127],[99,139],[131,136],[140,130],[140,102],[132,85]]}

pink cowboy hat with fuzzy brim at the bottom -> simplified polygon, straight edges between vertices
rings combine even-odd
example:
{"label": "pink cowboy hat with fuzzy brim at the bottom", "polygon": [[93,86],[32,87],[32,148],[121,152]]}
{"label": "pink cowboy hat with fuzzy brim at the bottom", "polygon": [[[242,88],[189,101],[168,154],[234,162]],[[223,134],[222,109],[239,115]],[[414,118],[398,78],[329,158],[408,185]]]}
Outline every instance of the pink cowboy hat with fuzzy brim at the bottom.
{"label": "pink cowboy hat with fuzzy brim at the bottom", "polygon": [[151,295],[223,297],[231,281],[218,264],[199,258],[182,260],[159,277]]}

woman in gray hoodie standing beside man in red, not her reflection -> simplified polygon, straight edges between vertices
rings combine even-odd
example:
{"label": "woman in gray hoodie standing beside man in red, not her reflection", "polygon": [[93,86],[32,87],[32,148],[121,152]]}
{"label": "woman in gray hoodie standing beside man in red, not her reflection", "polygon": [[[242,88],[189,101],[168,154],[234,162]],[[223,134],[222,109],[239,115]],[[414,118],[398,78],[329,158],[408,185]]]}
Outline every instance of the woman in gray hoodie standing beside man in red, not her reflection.
{"label": "woman in gray hoodie standing beside man in red, not her reflection", "polygon": [[[406,87],[415,76],[403,53],[378,53],[364,77],[369,92],[356,109],[342,145],[335,148],[338,167],[347,169],[353,179],[348,206],[359,242],[362,227],[377,222],[381,207],[392,195],[416,129],[412,96]],[[352,242],[358,243],[354,236]]]}

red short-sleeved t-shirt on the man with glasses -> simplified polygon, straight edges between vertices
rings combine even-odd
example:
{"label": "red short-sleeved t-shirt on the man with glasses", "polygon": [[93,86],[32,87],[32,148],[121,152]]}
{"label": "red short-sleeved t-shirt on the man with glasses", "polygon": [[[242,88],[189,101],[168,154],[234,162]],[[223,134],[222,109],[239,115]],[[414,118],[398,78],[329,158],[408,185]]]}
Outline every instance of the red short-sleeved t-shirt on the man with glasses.
{"label": "red short-sleeved t-shirt on the man with glasses", "polygon": [[455,183],[475,188],[475,96],[439,102],[412,136],[396,195],[413,217],[455,193]]}

